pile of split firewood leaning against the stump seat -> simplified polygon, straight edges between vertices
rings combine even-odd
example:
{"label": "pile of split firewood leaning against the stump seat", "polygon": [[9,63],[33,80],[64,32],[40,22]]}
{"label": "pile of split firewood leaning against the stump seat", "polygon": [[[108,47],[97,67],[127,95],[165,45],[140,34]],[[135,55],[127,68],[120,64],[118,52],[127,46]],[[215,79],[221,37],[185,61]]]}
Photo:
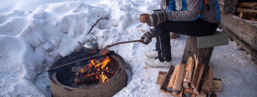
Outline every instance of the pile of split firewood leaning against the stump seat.
{"label": "pile of split firewood leaning against the stump seat", "polygon": [[[213,78],[214,71],[212,68],[209,66],[205,69],[205,65],[199,60],[201,61],[200,58],[194,55],[188,58],[187,65],[180,62],[175,68],[171,66],[172,69],[164,78],[160,90],[162,92],[167,92],[168,90],[176,97],[206,97],[207,95],[212,95],[212,90],[221,91],[222,81]],[[160,74],[165,73],[159,72]],[[158,78],[157,80],[160,80]],[[169,79],[168,84],[167,79]]]}

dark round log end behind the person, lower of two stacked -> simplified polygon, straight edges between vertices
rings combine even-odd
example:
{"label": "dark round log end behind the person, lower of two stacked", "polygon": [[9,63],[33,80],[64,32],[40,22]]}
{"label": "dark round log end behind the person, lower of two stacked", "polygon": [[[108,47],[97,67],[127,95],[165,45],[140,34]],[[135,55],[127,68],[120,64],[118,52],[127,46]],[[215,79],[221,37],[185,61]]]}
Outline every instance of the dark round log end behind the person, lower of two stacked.
{"label": "dark round log end behind the person, lower of two stacked", "polygon": [[236,12],[236,5],[227,4],[227,5],[219,5],[220,11],[225,14],[234,14]]}

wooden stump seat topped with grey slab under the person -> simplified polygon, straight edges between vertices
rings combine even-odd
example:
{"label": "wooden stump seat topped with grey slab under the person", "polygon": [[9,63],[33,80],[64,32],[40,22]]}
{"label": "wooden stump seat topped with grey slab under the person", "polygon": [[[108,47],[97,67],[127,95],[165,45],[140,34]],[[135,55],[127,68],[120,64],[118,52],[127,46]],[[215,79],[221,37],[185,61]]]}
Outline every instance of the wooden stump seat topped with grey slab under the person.
{"label": "wooden stump seat topped with grey slab under the person", "polygon": [[188,58],[196,54],[207,68],[213,48],[222,45],[228,45],[228,34],[218,30],[210,36],[187,36],[182,62],[187,63]]}

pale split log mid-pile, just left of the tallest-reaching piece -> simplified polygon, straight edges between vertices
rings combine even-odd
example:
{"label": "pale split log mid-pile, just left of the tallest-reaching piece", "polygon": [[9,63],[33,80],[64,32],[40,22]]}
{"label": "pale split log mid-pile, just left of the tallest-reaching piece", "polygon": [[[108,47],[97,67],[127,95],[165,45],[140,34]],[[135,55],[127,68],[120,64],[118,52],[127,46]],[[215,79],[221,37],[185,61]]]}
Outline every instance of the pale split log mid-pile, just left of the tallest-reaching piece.
{"label": "pale split log mid-pile, just left of the tallest-reaching piece", "polygon": [[186,65],[186,74],[184,76],[183,82],[191,82],[193,66],[194,66],[195,58],[189,57]]}

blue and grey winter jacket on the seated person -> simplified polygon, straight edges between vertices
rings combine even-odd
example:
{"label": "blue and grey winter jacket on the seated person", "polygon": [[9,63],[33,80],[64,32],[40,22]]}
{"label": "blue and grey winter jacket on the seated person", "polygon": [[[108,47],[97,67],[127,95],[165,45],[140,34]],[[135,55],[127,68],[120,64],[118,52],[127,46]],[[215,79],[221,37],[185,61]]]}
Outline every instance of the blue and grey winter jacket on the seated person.
{"label": "blue and grey winter jacket on the seated person", "polygon": [[204,0],[182,0],[182,11],[176,11],[174,0],[170,0],[168,19],[170,21],[194,21],[198,18],[211,23],[220,22],[220,10],[217,0],[207,0],[210,10]]}

